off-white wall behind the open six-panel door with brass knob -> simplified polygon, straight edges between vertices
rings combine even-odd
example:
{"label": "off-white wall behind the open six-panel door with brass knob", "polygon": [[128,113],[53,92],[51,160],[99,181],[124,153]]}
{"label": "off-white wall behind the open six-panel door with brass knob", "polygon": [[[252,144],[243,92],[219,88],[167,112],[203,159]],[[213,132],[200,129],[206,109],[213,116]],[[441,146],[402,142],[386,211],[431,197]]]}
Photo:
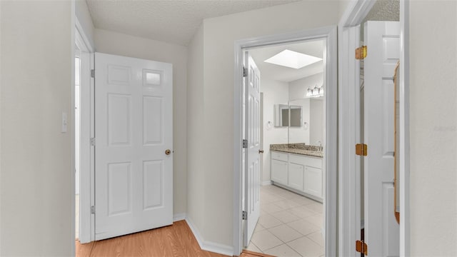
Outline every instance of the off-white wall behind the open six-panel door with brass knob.
{"label": "off-white wall behind the open six-panel door with brass knob", "polygon": [[98,52],[173,64],[173,211],[186,213],[187,48],[102,29],[95,29],[94,36]]}

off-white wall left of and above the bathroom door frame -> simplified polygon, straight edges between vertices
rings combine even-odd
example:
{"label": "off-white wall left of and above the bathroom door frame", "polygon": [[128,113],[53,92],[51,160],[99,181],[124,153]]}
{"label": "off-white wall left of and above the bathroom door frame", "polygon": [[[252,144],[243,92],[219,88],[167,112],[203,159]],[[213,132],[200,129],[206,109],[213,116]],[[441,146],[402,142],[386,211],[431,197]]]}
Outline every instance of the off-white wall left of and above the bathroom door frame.
{"label": "off-white wall left of and above the bathroom door frame", "polygon": [[[338,23],[337,1],[299,1],[293,4],[247,11],[204,21],[204,133],[192,134],[201,147],[188,151],[204,151],[204,160],[189,167],[189,173],[201,170],[205,181],[194,181],[201,187],[205,206],[191,218],[204,217],[197,224],[206,240],[233,246],[233,60],[234,41],[255,36],[282,34]],[[224,151],[221,151],[224,148]],[[192,171],[190,171],[192,169]],[[198,198],[198,199],[197,199]]]}

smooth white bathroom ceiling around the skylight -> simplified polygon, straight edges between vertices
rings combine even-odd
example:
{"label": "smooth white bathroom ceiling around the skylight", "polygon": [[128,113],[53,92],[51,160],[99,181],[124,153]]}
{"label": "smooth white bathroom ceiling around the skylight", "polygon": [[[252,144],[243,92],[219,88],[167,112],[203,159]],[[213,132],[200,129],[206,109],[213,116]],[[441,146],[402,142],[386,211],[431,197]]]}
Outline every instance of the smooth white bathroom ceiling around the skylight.
{"label": "smooth white bathroom ceiling around the skylight", "polygon": [[318,61],[314,64],[304,66],[301,69],[293,69],[264,62],[266,59],[285,49],[323,58],[323,40],[250,49],[249,54],[251,54],[252,58],[256,62],[263,78],[275,81],[291,82],[323,72],[323,61]]}

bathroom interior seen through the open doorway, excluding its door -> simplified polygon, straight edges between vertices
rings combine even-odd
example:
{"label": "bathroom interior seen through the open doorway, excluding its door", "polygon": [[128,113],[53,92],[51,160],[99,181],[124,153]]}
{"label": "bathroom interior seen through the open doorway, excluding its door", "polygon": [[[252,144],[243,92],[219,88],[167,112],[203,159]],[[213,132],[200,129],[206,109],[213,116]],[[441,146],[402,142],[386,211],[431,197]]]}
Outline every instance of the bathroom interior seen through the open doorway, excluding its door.
{"label": "bathroom interior seen through the open doorway, excluding its door", "polygon": [[[245,245],[248,251],[273,256],[324,253],[325,44],[325,39],[313,39],[244,49],[259,71],[259,143],[263,151],[259,156],[260,215],[253,236]],[[292,66],[303,62],[302,67],[269,62],[281,54],[296,55],[286,61],[292,61]]]}

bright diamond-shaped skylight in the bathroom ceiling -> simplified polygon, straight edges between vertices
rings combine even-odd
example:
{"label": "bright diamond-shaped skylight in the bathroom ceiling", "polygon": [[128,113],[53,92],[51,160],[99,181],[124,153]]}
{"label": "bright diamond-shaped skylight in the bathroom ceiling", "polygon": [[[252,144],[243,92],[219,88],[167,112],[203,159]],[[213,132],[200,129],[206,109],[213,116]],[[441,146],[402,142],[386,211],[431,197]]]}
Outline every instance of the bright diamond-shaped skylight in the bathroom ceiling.
{"label": "bright diamond-shaped skylight in the bathroom ceiling", "polygon": [[268,64],[276,64],[286,66],[293,69],[300,69],[309,64],[314,64],[321,61],[322,58],[316,56],[309,56],[308,54],[301,54],[296,51],[284,50],[275,56],[266,59],[265,62]]}

